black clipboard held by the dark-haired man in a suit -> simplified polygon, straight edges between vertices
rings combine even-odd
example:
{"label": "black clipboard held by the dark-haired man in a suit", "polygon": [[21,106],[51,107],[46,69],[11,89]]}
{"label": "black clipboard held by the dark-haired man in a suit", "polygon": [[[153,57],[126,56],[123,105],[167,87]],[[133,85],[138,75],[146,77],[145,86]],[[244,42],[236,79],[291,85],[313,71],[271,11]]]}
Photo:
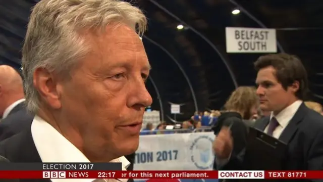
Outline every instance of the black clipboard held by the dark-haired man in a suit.
{"label": "black clipboard held by the dark-haired man in a suit", "polygon": [[282,170],[288,145],[250,127],[243,164],[246,170]]}

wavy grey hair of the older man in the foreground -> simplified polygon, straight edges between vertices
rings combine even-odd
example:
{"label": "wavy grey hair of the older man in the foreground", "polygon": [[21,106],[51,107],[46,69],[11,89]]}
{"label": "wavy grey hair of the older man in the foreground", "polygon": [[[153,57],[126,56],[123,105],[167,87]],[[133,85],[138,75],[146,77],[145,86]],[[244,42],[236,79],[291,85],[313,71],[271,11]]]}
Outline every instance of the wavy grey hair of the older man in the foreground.
{"label": "wavy grey hair of the older man in the foreground", "polygon": [[27,108],[36,113],[40,96],[33,73],[44,68],[68,76],[89,48],[82,31],[104,30],[109,23],[126,23],[140,35],[147,20],[142,11],[118,0],[41,0],[32,10],[22,50]]}

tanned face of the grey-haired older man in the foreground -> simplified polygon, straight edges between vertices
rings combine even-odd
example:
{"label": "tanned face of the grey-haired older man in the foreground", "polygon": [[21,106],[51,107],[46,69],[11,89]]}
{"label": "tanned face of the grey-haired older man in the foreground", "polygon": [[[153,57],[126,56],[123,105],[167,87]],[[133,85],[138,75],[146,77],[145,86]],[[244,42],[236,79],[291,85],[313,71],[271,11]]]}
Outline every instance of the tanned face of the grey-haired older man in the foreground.
{"label": "tanned face of the grey-haired older man in the foreground", "polygon": [[[139,143],[149,63],[138,35],[126,25],[88,34],[92,45],[62,86],[62,110],[83,139],[87,156],[131,154]],[[78,146],[77,146],[78,147]]]}

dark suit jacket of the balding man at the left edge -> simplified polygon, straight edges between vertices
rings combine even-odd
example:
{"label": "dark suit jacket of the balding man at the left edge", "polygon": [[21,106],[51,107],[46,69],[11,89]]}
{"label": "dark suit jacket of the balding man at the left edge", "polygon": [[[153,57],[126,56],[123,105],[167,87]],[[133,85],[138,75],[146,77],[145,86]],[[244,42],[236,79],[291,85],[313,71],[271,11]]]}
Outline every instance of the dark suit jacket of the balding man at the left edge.
{"label": "dark suit jacket of the balding man at the left edge", "polygon": [[9,115],[0,122],[0,141],[3,141],[25,129],[30,129],[34,115],[27,112],[25,102],[18,104]]}

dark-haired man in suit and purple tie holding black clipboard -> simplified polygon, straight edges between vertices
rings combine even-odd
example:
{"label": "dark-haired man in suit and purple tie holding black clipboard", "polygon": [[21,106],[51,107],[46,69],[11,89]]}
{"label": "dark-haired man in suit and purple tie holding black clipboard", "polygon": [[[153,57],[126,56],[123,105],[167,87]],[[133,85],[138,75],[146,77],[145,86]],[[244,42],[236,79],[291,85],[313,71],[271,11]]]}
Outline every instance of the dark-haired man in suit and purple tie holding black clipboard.
{"label": "dark-haired man in suit and purple tie holding black clipboard", "polygon": [[[260,108],[273,112],[254,127],[288,144],[284,170],[323,170],[323,117],[302,102],[308,83],[301,61],[288,54],[266,55],[255,68]],[[243,154],[232,152],[229,128],[220,131],[215,145],[220,169],[243,169]]]}

